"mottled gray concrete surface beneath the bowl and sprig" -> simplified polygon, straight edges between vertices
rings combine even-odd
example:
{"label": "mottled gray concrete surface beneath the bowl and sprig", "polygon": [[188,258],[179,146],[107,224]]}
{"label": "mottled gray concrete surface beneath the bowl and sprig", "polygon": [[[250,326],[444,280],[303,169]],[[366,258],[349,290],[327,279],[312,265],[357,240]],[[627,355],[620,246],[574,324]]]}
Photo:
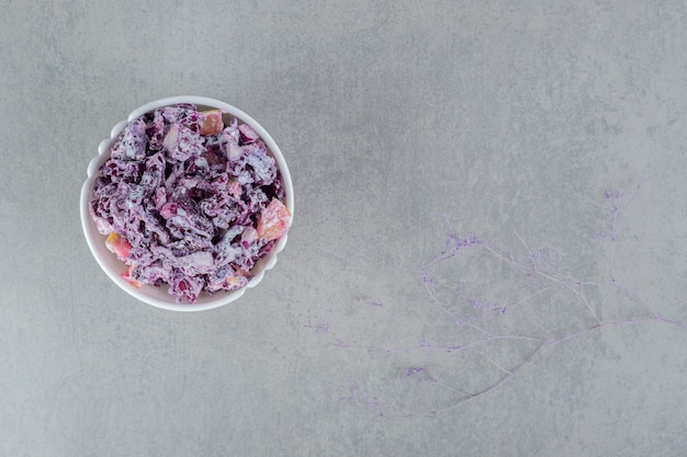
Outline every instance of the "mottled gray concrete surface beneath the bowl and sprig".
{"label": "mottled gray concrete surface beneath the bowl and sprig", "polygon": [[[0,10],[0,456],[687,452],[686,2]],[[209,312],[136,302],[79,222],[98,142],[173,94],[252,115],[296,191]],[[433,262],[447,232],[484,243]]]}

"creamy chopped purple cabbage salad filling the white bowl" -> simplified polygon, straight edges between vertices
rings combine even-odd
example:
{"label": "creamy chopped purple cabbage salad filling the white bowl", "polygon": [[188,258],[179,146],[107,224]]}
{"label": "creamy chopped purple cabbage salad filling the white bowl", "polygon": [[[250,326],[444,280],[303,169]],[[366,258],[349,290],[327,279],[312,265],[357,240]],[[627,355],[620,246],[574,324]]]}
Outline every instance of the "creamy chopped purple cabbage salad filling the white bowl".
{"label": "creamy chopped purple cabbage salad filling the white bowl", "polygon": [[192,104],[131,122],[100,168],[90,214],[134,287],[178,304],[245,287],[289,230],[275,160],[248,124]]}

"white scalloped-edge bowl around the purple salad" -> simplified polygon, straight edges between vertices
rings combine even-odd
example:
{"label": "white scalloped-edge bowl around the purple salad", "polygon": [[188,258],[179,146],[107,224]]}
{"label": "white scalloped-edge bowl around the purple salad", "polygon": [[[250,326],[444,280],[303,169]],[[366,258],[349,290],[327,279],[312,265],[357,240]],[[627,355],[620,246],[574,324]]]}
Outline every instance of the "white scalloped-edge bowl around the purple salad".
{"label": "white scalloped-edge bowl around the purple salad", "polygon": [[124,273],[126,266],[119,259],[116,259],[115,254],[113,254],[105,248],[106,237],[98,232],[95,224],[93,222],[89,213],[89,203],[94,198],[93,184],[95,178],[98,178],[99,175],[100,167],[110,158],[110,146],[122,133],[124,127],[129,122],[136,119],[145,113],[154,111],[158,107],[176,105],[179,103],[192,103],[196,105],[199,111],[211,108],[224,110],[228,116],[236,117],[239,124],[249,124],[260,135],[260,137],[267,145],[270,153],[275,159],[279,170],[281,172],[282,184],[285,192],[284,204],[292,214],[291,220],[289,221],[289,225],[291,226],[293,221],[293,184],[291,182],[291,174],[289,173],[289,167],[286,165],[286,162],[281,153],[281,150],[279,149],[279,146],[277,146],[270,134],[268,134],[267,130],[252,117],[228,103],[204,96],[192,95],[170,96],[146,103],[145,105],[134,110],[128,115],[128,118],[126,121],[119,122],[112,128],[112,132],[110,133],[110,138],[104,139],[100,142],[98,147],[98,157],[93,158],[93,160],[91,160],[88,165],[88,178],[86,179],[86,182],[81,187],[81,225],[83,227],[83,233],[86,235],[86,241],[88,242],[88,245],[91,249],[93,256],[98,261],[98,264],[108,274],[108,276],[110,276],[110,278],[127,294],[132,295],[143,302],[156,306],[158,308],[164,308],[172,311],[202,311],[227,305],[241,297],[246,293],[246,289],[257,286],[262,281],[264,273],[268,270],[272,269],[277,263],[277,254],[284,249],[288,240],[288,235],[284,235],[284,237],[282,237],[277,242],[272,251],[266,258],[260,259],[260,261],[256,263],[255,267],[251,270],[252,278],[248,282],[248,285],[246,287],[232,292],[218,292],[212,296],[207,296],[205,293],[202,293],[195,304],[178,305],[174,301],[174,297],[169,295],[167,286],[155,288],[148,285],[144,285],[140,288],[136,288],[121,277],[121,274]]}

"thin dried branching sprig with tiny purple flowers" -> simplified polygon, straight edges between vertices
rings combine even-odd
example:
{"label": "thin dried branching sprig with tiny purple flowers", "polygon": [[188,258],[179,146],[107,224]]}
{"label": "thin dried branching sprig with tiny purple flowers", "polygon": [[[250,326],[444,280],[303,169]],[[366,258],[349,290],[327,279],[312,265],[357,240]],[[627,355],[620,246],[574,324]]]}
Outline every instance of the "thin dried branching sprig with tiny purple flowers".
{"label": "thin dried branching sprig with tiny purple flowers", "polygon": [[[432,389],[440,389],[449,393],[450,399],[446,399],[441,407],[427,404],[425,402],[420,410],[391,412],[391,402],[383,402],[381,395],[364,393],[360,382],[349,381],[347,395],[341,398],[346,403],[354,403],[369,409],[376,415],[417,415],[437,414],[453,410],[461,404],[483,397],[513,380],[523,370],[532,367],[538,361],[562,343],[577,339],[582,335],[599,331],[605,328],[640,324],[647,322],[662,322],[669,325],[687,329],[687,323],[663,318],[651,302],[644,300],[635,290],[618,281],[616,275],[615,241],[621,232],[622,215],[628,206],[634,201],[643,183],[640,183],[632,193],[626,196],[624,193],[608,190],[605,197],[609,208],[605,210],[605,228],[597,237],[597,241],[610,244],[609,264],[610,278],[605,281],[582,279],[563,273],[561,259],[554,259],[551,250],[531,249],[523,237],[515,233],[519,241],[516,255],[509,249],[496,249],[487,243],[483,238],[471,236],[460,237],[450,226],[446,232],[444,248],[435,255],[430,262],[421,267],[421,281],[430,301],[448,317],[452,322],[452,328],[458,333],[452,333],[449,340],[451,343],[437,343],[420,341],[417,345],[394,345],[387,342],[385,345],[365,345],[345,342],[339,339],[330,327],[331,309],[327,310],[320,323],[313,325],[308,317],[306,327],[314,328],[316,332],[324,332],[334,340],[334,345],[339,349],[364,350],[371,354],[382,354],[385,357],[399,354],[424,354],[426,364],[414,363],[408,366],[397,368],[395,381],[405,385],[415,384],[416,387],[428,386]],[[464,260],[466,255],[476,255],[488,259],[491,262],[499,263],[510,272],[510,278],[505,281],[508,293],[513,294],[509,299],[496,300],[493,297],[472,295],[470,284],[463,279],[457,279],[453,272],[452,295],[442,296],[440,288],[448,284],[437,276],[440,266],[449,265],[455,269],[452,263],[459,259]],[[473,259],[471,258],[470,261]],[[599,312],[601,302],[599,298],[590,298],[595,290],[605,287],[622,294],[624,298],[633,299],[644,309],[640,316],[630,319],[613,320],[604,318]],[[478,289],[485,292],[484,289]],[[487,289],[488,294],[489,290]],[[570,298],[572,297],[572,300]],[[602,298],[602,297],[601,297]],[[370,307],[382,308],[384,305],[380,300],[362,300]],[[457,304],[461,306],[457,306]],[[537,306],[547,304],[558,306],[556,313],[562,312],[565,307],[567,317],[571,317],[571,325],[562,330],[552,331],[551,328],[538,322],[539,316]],[[530,305],[529,307],[527,305]],[[575,305],[575,306],[572,306]],[[601,307],[602,308],[602,307]],[[387,308],[387,312],[394,315],[395,311]],[[517,315],[526,322],[525,325],[508,324],[508,319]],[[517,319],[515,319],[517,320]],[[506,324],[504,324],[506,323]],[[323,331],[323,329],[326,329]],[[460,341],[458,341],[460,340]],[[497,345],[507,344],[509,346],[523,345],[526,350],[509,352],[509,357],[500,357]],[[513,354],[518,353],[519,358],[513,359]],[[439,355],[436,357],[436,355]],[[452,357],[449,361],[447,357]],[[470,376],[477,377],[481,381],[476,385],[465,387],[470,384],[470,378],[457,380],[458,377],[447,366],[457,367],[457,363],[468,361],[480,361],[482,370],[489,372],[489,376],[481,376],[482,373],[472,373]],[[399,357],[391,359],[392,365],[397,366]],[[458,359],[458,362],[457,362]],[[473,362],[474,363],[474,362]],[[452,364],[452,365],[451,365]],[[432,365],[435,368],[430,369]],[[441,375],[436,375],[436,369],[442,370]],[[444,368],[444,369],[441,369]],[[379,374],[378,374],[379,375]],[[482,382],[482,385],[480,385]],[[352,386],[352,387],[351,387]],[[423,395],[423,393],[418,393]],[[406,399],[407,400],[407,399]],[[408,401],[403,401],[407,403]],[[384,407],[384,408],[383,408]]]}

